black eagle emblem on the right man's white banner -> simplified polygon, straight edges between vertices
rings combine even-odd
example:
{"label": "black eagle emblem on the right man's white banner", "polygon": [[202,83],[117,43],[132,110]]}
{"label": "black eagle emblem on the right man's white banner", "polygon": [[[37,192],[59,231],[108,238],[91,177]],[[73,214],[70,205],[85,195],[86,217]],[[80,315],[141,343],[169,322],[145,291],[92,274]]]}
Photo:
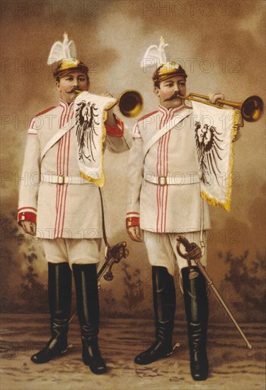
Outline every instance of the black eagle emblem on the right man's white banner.
{"label": "black eagle emblem on the right man's white banner", "polygon": [[195,139],[197,147],[197,157],[199,160],[199,179],[204,185],[212,184],[212,176],[218,181],[219,161],[221,161],[220,151],[223,140],[219,138],[219,133],[215,126],[195,122]]}

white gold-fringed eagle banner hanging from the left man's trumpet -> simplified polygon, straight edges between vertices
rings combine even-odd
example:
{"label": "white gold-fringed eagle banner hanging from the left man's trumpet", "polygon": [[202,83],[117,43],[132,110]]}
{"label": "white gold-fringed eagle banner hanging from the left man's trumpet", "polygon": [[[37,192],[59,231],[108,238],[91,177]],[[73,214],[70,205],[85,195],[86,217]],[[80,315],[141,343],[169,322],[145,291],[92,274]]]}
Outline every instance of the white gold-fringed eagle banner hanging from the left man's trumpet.
{"label": "white gold-fringed eagle banner hanging from the left man's trumpet", "polygon": [[116,99],[90,94],[79,94],[74,103],[76,141],[81,176],[88,182],[103,186],[103,150],[106,137],[106,110],[116,104]]}

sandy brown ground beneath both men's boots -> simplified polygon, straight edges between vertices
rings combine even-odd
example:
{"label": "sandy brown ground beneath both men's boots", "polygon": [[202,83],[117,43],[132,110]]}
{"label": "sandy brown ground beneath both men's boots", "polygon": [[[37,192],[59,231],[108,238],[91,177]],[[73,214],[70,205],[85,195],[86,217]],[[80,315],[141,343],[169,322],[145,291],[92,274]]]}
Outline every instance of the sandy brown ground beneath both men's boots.
{"label": "sandy brown ground beneath both men's boots", "polygon": [[242,324],[253,345],[248,350],[231,323],[209,325],[209,378],[190,377],[185,323],[175,323],[173,355],[147,366],[134,364],[134,356],[153,341],[150,320],[105,318],[101,321],[100,349],[108,373],[94,375],[81,361],[76,318],[69,330],[67,355],[47,364],[30,362],[30,355],[49,338],[47,315],[1,316],[1,390],[67,389],[265,389],[265,330],[262,324]]}

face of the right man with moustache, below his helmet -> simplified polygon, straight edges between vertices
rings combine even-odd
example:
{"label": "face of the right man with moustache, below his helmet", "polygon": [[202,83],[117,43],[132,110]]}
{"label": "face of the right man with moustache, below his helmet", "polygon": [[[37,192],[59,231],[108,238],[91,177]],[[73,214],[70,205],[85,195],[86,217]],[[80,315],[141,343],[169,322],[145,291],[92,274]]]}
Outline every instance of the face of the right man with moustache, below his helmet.
{"label": "face of the right man with moustache, below his helmet", "polygon": [[160,87],[154,87],[156,96],[160,99],[161,106],[175,108],[182,106],[183,99],[176,94],[185,96],[185,78],[183,76],[172,76],[160,83]]}

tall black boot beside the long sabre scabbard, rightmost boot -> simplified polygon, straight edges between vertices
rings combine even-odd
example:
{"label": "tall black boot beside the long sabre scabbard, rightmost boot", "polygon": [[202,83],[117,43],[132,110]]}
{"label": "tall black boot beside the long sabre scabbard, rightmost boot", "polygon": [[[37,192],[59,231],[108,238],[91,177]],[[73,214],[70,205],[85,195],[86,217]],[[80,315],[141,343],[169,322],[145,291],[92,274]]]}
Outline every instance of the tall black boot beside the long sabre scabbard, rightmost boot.
{"label": "tall black boot beside the long sabre scabbard, rightmost boot", "polygon": [[209,316],[206,280],[198,267],[183,268],[182,277],[191,375],[195,381],[204,381],[209,372],[206,352]]}

